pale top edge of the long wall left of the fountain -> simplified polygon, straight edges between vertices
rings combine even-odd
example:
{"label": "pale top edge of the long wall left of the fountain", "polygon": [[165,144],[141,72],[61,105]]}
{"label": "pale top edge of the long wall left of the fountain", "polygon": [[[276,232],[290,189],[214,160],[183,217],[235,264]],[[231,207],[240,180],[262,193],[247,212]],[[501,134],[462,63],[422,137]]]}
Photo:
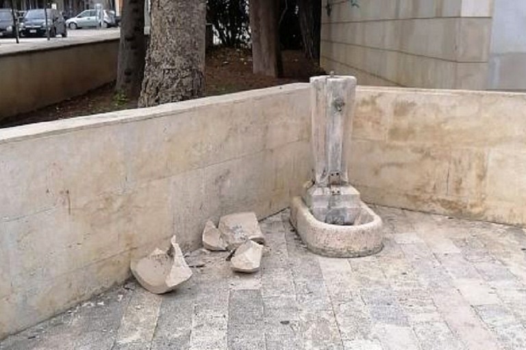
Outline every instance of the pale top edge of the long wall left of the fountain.
{"label": "pale top edge of the long wall left of the fountain", "polygon": [[0,129],[0,144],[23,141],[79,131],[83,129],[94,129],[113,124],[124,124],[138,122],[163,116],[173,116],[185,112],[193,111],[199,107],[218,105],[224,103],[236,103],[243,100],[264,98],[277,94],[291,94],[293,92],[308,89],[308,83],[292,83],[275,87],[266,87],[259,90],[249,90],[225,94],[220,96],[210,96],[186,100],[179,103],[166,103],[155,107],[126,109],[108,113],[93,114],[91,116],[79,116],[51,122],[40,122]]}

